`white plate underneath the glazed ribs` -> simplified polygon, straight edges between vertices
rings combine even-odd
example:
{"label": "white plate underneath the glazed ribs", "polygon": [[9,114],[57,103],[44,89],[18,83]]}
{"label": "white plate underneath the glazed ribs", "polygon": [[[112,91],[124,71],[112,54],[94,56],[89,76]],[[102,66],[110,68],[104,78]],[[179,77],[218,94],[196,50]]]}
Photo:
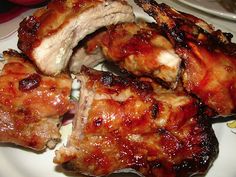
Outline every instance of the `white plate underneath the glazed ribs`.
{"label": "white plate underneath the glazed ribs", "polygon": [[[171,5],[174,5],[174,3]],[[138,17],[148,16],[135,6],[135,13]],[[197,14],[195,14],[197,15]],[[225,30],[225,29],[222,29]],[[227,31],[227,30],[225,30]],[[0,52],[8,48],[16,49],[17,34],[0,40]],[[70,132],[70,126],[63,127],[62,139],[65,142]],[[213,128],[220,144],[220,153],[206,177],[235,177],[236,176],[236,134],[226,126],[226,123],[214,124]],[[63,143],[57,146],[59,148]],[[63,173],[60,168],[53,164],[54,150],[44,153],[34,153],[12,145],[0,144],[0,177],[73,177],[72,174]],[[78,176],[78,175],[77,175]],[[132,174],[113,175],[131,177]]]}

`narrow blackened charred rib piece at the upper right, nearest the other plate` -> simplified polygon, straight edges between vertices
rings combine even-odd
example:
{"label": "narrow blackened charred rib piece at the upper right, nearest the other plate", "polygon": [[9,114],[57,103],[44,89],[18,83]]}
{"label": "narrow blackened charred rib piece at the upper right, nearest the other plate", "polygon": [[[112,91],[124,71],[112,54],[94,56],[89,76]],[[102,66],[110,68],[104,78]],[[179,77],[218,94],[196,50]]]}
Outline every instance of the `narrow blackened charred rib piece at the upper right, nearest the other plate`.
{"label": "narrow blackened charred rib piece at the upper right, nearest the other plate", "polygon": [[[220,30],[215,31],[214,26],[208,24],[206,21],[197,18],[191,14],[184,12],[179,12],[174,8],[161,3],[158,4],[154,0],[134,0],[137,5],[143,8],[150,16],[152,16],[157,24],[163,29],[172,29],[172,31],[164,30],[167,35],[175,36],[176,39],[170,40],[174,43],[175,41],[181,40],[183,34],[181,32],[185,31],[190,33],[190,36],[193,34],[198,34],[199,31],[204,30],[207,33],[210,33],[218,38],[221,42],[229,42],[229,38],[226,34],[222,33]],[[176,31],[182,29],[183,31]]]}

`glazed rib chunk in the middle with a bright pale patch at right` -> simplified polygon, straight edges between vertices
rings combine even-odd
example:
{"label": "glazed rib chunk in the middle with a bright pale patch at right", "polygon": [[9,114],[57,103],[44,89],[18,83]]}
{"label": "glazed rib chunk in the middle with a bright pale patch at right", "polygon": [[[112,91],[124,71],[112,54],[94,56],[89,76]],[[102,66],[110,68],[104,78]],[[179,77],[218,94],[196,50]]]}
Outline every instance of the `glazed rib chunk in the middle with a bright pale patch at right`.
{"label": "glazed rib chunk in the middle with a bright pale patch at right", "polygon": [[175,88],[181,59],[155,24],[139,22],[110,26],[87,42],[86,51],[94,53],[98,47],[102,48],[107,60],[122,70],[152,77]]}

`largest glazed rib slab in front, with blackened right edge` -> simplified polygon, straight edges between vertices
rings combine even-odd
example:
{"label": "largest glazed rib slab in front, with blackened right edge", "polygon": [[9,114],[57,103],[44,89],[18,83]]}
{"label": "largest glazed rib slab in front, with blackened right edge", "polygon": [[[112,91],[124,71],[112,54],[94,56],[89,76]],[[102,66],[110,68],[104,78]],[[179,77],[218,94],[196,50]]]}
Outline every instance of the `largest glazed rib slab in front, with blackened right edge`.
{"label": "largest glazed rib slab in front, with blackened right edge", "polygon": [[144,176],[186,177],[205,173],[215,159],[218,142],[195,99],[149,78],[85,67],[78,79],[73,131],[54,158],[66,170],[102,176],[133,168]]}

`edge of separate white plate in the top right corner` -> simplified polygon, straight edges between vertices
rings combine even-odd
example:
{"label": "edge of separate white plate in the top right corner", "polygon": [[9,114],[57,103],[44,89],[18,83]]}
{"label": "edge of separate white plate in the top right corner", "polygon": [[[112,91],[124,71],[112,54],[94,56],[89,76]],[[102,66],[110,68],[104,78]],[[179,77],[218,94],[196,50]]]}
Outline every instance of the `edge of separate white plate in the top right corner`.
{"label": "edge of separate white plate in the top right corner", "polygon": [[178,1],[222,18],[236,20],[236,12],[227,11],[219,3],[219,0],[178,0]]}

